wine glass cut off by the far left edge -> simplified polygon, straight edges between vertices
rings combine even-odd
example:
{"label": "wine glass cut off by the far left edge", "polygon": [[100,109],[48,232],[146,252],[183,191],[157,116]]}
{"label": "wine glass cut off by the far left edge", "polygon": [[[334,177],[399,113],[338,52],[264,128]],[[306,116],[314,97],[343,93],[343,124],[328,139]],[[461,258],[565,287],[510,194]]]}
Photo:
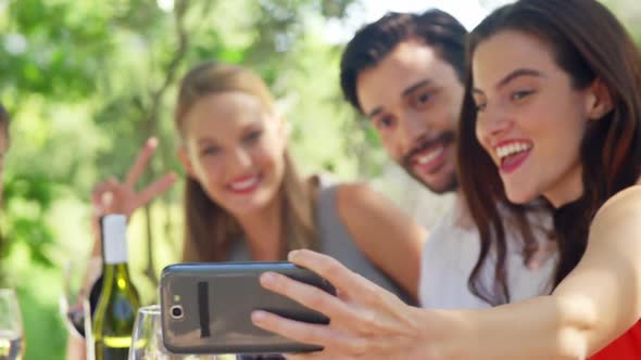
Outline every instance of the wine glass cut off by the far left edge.
{"label": "wine glass cut off by the far left edge", "polygon": [[24,347],[22,316],[15,292],[0,288],[0,360],[21,360]]}

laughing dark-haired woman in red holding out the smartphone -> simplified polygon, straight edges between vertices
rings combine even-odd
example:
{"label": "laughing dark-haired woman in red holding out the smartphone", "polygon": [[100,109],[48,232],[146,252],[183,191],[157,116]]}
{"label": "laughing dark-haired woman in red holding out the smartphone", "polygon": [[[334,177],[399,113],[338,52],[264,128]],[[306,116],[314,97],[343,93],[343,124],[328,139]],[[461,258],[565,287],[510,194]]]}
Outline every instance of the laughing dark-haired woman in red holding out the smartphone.
{"label": "laughing dark-haired woman in red holding out the smartphone", "polygon": [[[641,359],[641,55],[595,0],[520,0],[472,34],[460,128],[462,187],[481,240],[542,197],[558,263],[548,296],[486,310],[420,310],[332,258],[290,259],[338,297],[277,274],[265,287],[331,318],[254,322],[325,349],[291,359]],[[495,205],[499,204],[499,205]],[[494,288],[510,274],[495,269]]]}

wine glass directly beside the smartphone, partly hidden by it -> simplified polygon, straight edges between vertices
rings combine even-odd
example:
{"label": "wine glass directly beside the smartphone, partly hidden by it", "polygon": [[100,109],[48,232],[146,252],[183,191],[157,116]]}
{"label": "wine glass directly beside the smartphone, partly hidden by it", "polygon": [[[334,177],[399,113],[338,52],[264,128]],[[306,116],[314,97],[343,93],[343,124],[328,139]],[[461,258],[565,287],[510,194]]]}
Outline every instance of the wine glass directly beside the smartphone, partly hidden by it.
{"label": "wine glass directly beside the smartphone, partly hidden by it", "polygon": [[[225,356],[172,353],[163,345],[160,306],[151,305],[138,309],[129,360],[225,360]],[[234,359],[234,358],[231,358]]]}

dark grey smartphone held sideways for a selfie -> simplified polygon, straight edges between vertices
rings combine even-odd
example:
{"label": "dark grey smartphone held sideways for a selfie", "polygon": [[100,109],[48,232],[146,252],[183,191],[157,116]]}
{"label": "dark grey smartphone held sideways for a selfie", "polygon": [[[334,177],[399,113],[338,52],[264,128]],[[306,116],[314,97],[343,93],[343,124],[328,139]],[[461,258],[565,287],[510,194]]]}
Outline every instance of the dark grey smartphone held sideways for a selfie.
{"label": "dark grey smartphone held sideways for a selfie", "polygon": [[256,327],[253,310],[266,310],[309,323],[329,319],[292,299],[263,288],[259,277],[274,271],[335,290],[316,273],[291,262],[178,263],[163,269],[160,285],[165,347],[177,353],[285,353],[322,350]]}

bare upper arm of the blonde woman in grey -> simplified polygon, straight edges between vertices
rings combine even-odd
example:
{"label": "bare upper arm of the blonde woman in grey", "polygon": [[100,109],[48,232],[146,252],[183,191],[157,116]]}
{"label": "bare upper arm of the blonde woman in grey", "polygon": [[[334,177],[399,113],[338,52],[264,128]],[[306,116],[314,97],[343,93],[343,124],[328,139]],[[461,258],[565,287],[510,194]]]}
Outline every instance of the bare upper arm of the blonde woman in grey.
{"label": "bare upper arm of the blonde woman in grey", "polygon": [[427,231],[365,183],[340,185],[338,214],[367,258],[414,298]]}

